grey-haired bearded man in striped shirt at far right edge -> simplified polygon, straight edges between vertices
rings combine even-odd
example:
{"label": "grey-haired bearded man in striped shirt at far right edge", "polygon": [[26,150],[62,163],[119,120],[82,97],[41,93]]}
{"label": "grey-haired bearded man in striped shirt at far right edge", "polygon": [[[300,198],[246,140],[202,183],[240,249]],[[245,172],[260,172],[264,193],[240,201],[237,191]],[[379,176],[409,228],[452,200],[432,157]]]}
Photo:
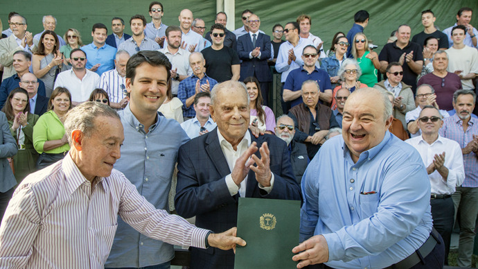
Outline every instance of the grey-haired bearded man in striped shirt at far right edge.
{"label": "grey-haired bearded man in striped shirt at far right edge", "polygon": [[465,180],[452,194],[455,218],[459,212],[459,267],[471,267],[478,214],[478,120],[471,116],[476,98],[475,92],[469,89],[454,92],[453,107],[457,114],[444,119],[439,130],[442,137],[458,142],[465,166]]}

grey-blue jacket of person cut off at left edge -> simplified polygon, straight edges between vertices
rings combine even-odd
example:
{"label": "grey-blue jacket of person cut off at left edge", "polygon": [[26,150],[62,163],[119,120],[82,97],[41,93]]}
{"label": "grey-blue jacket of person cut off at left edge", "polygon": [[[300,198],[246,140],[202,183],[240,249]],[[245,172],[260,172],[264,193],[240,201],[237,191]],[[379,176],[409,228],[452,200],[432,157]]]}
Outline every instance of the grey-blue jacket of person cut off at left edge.
{"label": "grey-blue jacket of person cut off at left edge", "polygon": [[10,132],[7,116],[3,112],[0,112],[0,128],[0,192],[6,193],[17,184],[7,157],[17,154],[18,148],[17,141]]}

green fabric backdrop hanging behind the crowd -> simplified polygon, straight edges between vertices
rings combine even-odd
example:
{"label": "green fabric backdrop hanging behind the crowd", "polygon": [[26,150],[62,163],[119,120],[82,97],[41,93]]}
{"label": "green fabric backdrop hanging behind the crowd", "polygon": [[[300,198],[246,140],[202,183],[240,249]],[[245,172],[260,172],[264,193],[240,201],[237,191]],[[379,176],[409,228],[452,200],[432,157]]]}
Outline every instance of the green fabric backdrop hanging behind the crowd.
{"label": "green fabric backdrop hanging behind the crowd", "polygon": [[[225,0],[228,1],[228,0]],[[103,22],[111,33],[111,18],[118,16],[129,21],[135,14],[148,15],[150,1],[12,1],[1,0],[0,18],[3,29],[7,26],[8,12],[15,10],[28,19],[28,31],[36,34],[43,30],[42,16],[54,15],[57,18],[57,33],[63,35],[67,28],[77,28],[82,34],[85,44],[91,42],[91,26],[96,22]],[[183,8],[193,10],[195,17],[202,17],[206,21],[206,27],[213,24],[215,16],[215,1],[161,1],[165,9],[163,22],[167,25],[176,24],[179,12]],[[373,40],[374,44],[382,46],[387,42],[391,31],[400,24],[409,24],[411,34],[423,31],[421,26],[421,11],[431,8],[436,16],[435,25],[442,30],[454,24],[455,16],[459,8],[468,6],[475,9],[471,24],[478,27],[478,1],[477,0],[368,0],[368,1],[344,1],[344,0],[295,0],[295,1],[257,1],[236,0],[236,28],[242,26],[240,13],[249,8],[260,16],[260,28],[272,35],[272,26],[276,23],[285,24],[295,21],[296,17],[306,13],[312,17],[312,33],[324,40],[324,48],[330,47],[333,35],[337,31],[347,33],[353,24],[353,15],[357,10],[368,10],[371,14],[369,27],[365,29],[366,35]],[[129,23],[126,22],[126,33],[131,33]]]}

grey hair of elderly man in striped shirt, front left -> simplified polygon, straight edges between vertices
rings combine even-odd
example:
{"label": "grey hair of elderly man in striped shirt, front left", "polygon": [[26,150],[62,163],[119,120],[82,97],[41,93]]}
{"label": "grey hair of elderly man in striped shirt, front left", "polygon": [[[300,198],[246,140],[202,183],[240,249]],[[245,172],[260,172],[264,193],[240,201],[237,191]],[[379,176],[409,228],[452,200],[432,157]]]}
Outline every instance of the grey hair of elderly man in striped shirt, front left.
{"label": "grey hair of elderly man in striped shirt, front left", "polygon": [[99,116],[120,119],[118,113],[108,105],[98,102],[82,103],[67,113],[67,119],[64,121],[64,131],[68,136],[68,142],[71,146],[71,133],[73,130],[80,130],[85,137],[91,137],[95,128],[95,119]]}

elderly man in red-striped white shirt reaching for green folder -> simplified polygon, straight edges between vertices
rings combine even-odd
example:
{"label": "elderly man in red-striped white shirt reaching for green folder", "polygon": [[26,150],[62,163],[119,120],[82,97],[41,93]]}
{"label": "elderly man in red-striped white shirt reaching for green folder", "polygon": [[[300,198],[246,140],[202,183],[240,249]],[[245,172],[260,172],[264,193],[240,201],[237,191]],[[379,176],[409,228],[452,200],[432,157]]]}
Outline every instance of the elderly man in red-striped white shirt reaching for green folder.
{"label": "elderly man in red-striped white shirt reaching for green folder", "polygon": [[139,232],[175,245],[235,248],[236,228],[212,234],[155,209],[123,173],[123,125],[114,110],[87,102],[67,115],[71,150],[15,191],[0,227],[0,268],[103,268],[121,216]]}

